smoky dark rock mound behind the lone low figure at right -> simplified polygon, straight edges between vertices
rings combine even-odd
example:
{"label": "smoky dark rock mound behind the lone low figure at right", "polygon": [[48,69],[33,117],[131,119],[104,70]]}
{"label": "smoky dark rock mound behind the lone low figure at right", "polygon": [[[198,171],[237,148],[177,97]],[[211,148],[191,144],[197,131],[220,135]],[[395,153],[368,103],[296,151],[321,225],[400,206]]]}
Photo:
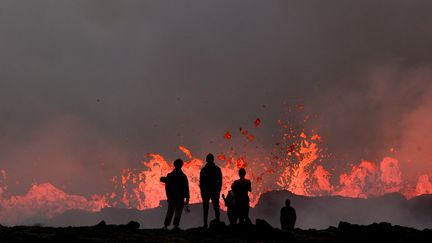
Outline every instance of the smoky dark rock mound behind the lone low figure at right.
{"label": "smoky dark rock mound behind the lone low figure at right", "polygon": [[324,229],[339,221],[356,224],[391,222],[416,228],[432,227],[432,195],[405,199],[390,193],[369,199],[339,196],[305,197],[288,191],[271,191],[261,195],[252,217],[264,218],[273,226],[280,226],[279,214],[285,199],[297,211],[296,227]]}

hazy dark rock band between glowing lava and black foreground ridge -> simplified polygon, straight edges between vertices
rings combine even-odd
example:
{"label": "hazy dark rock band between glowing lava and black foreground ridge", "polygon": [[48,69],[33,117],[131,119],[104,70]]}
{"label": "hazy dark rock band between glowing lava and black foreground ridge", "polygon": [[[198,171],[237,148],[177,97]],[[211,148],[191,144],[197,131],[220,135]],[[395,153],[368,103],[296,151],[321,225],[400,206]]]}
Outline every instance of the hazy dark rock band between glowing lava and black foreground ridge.
{"label": "hazy dark rock band between glowing lava and black foreground ridge", "polygon": [[[362,225],[391,222],[393,225],[417,229],[432,228],[432,195],[406,200],[398,193],[359,199],[339,196],[305,197],[288,191],[271,191],[264,193],[256,207],[251,208],[250,218],[265,219],[272,227],[280,227],[280,209],[287,198],[291,199],[291,205],[297,212],[296,228],[325,229],[331,225],[337,226],[340,221]],[[162,202],[161,207],[144,211],[121,208],[104,208],[100,212],[71,210],[37,223],[66,227],[96,225],[101,220],[110,224],[126,224],[133,220],[139,223],[141,228],[162,228],[166,206],[166,202]],[[190,213],[185,212],[182,215],[182,229],[200,227],[203,224],[202,205],[193,204],[190,209]],[[209,219],[212,218],[214,214],[213,210],[210,210]],[[221,220],[228,222],[225,212],[221,212]]]}

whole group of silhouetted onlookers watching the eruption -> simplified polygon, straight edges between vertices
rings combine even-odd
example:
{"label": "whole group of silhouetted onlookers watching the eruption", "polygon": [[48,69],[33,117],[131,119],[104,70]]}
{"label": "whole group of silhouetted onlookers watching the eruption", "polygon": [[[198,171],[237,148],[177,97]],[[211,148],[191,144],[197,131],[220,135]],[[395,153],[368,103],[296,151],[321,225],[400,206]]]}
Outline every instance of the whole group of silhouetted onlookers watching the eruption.
{"label": "whole group of silhouetted onlookers watching the eruption", "polygon": [[[219,198],[222,190],[222,171],[214,163],[213,154],[206,157],[206,165],[200,172],[200,191],[203,204],[204,228],[208,227],[208,210],[210,201],[215,212],[215,220],[220,222]],[[183,209],[189,210],[189,182],[187,176],[182,171],[183,161],[174,161],[174,170],[166,177],[161,177],[160,181],[165,183],[165,192],[168,201],[168,210],[165,216],[164,228],[168,228],[174,216],[174,229],[180,224]],[[239,179],[231,185],[231,190],[222,199],[227,207],[227,215],[230,225],[251,224],[249,219],[249,192],[252,191],[251,181],[246,179],[246,170],[239,169]],[[280,212],[280,223],[283,230],[294,229],[296,212],[291,207],[291,201],[285,201],[285,207]]]}

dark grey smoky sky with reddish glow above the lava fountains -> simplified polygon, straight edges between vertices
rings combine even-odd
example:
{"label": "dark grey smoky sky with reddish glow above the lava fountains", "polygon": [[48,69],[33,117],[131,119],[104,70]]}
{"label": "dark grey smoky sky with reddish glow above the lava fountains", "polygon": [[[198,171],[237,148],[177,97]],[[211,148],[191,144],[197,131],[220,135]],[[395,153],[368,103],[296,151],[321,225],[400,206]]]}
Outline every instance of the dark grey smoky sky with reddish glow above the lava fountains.
{"label": "dark grey smoky sky with reddish glow above the lava fountains", "polygon": [[[336,155],[432,172],[431,1],[0,3],[0,169],[12,191],[110,189],[147,152],[204,156],[303,103]],[[263,108],[263,105],[266,105]],[[263,140],[269,146],[270,140]],[[104,164],[102,165],[101,162]]]}

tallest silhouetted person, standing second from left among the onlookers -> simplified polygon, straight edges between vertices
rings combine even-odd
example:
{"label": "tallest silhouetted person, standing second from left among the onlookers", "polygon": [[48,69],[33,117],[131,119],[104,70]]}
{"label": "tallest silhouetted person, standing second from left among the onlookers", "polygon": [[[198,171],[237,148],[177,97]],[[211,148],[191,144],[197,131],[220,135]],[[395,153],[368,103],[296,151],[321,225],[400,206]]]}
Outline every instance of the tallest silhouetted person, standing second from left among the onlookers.
{"label": "tallest silhouetted person, standing second from left among the onlookers", "polygon": [[216,220],[220,221],[219,197],[222,189],[222,172],[221,169],[214,163],[213,154],[208,154],[206,158],[207,164],[200,172],[200,190],[203,201],[204,210],[204,227],[207,228],[208,209],[210,199],[215,211]]}

